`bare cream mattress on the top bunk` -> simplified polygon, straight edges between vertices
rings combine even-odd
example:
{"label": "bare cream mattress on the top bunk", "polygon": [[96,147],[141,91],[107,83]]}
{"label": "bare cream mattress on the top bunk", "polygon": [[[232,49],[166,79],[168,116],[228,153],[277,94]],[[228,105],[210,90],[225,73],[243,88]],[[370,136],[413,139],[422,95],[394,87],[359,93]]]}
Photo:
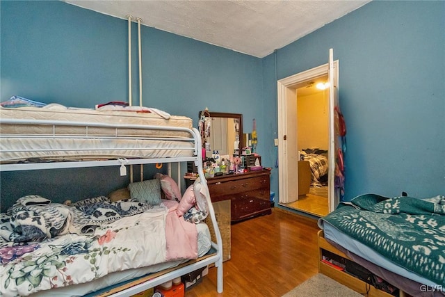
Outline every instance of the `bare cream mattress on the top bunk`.
{"label": "bare cream mattress on the top bunk", "polygon": [[72,109],[49,104],[0,108],[0,119],[2,163],[195,154],[191,118],[156,109]]}

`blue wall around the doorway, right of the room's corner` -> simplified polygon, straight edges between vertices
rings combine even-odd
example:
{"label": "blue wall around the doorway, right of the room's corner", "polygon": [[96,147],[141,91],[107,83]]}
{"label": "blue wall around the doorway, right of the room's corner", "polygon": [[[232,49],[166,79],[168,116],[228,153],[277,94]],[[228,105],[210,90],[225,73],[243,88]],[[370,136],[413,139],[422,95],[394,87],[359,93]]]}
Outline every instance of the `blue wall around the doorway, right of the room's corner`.
{"label": "blue wall around the doorway, right of the room's corner", "polygon": [[[445,195],[444,15],[444,1],[372,1],[277,51],[282,79],[327,63],[334,49],[347,200]],[[264,58],[267,99],[276,94],[274,60]]]}

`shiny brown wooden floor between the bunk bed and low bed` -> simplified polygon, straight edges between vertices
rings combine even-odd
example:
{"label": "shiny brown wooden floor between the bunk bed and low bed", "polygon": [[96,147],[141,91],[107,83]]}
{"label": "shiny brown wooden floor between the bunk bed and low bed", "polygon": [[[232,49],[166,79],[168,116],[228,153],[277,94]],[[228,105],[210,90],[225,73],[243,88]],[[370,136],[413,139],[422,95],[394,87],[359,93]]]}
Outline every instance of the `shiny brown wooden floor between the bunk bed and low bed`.
{"label": "shiny brown wooden floor between the bunk bed and low bed", "polygon": [[224,262],[224,291],[216,268],[186,297],[282,296],[318,272],[316,220],[273,208],[272,214],[232,225],[231,259]]}

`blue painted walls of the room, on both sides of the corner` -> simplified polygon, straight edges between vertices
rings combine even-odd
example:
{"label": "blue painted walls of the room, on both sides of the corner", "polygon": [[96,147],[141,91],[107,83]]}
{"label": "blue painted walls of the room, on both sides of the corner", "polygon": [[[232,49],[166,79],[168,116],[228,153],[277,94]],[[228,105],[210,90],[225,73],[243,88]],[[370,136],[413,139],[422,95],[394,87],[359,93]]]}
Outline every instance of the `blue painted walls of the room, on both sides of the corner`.
{"label": "blue painted walls of the room, on both sides of the corner", "polygon": [[[1,1],[0,10],[1,101],[127,100],[126,19],[61,1]],[[261,160],[275,168],[276,80],[327,63],[333,48],[348,125],[346,198],[444,194],[444,13],[444,1],[373,1],[263,59],[143,26],[143,104],[195,125],[206,106],[243,113],[245,132],[256,118]],[[271,184],[277,193],[276,169]]]}

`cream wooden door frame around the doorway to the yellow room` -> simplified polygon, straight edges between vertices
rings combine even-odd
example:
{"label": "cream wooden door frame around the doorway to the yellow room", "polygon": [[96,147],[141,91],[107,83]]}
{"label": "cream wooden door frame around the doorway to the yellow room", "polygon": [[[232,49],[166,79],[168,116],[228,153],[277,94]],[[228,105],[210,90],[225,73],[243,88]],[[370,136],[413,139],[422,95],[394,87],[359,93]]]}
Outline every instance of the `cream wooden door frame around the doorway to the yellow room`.
{"label": "cream wooden door frame around the doorway to the yellow room", "polygon": [[[329,63],[314,67],[312,69],[293,74],[290,77],[285,77],[277,81],[277,119],[278,119],[278,191],[280,203],[289,203],[298,200],[298,158],[296,152],[298,151],[297,140],[295,142],[296,147],[292,147],[291,143],[287,141],[288,131],[291,129],[298,129],[297,122],[295,121],[294,127],[288,127],[289,119],[296,118],[297,115],[289,114],[293,113],[296,109],[288,109],[290,102],[298,100],[296,96],[296,89],[298,84],[304,83],[311,79],[323,77],[329,75]],[[339,77],[339,61],[334,61],[334,77],[335,83],[337,83],[338,89],[338,77]],[[332,120],[330,119],[330,125]],[[289,146],[288,146],[289,145]],[[296,177],[296,182],[294,177]],[[332,211],[335,207],[334,195],[334,183],[329,183],[330,191],[328,191],[328,209]],[[332,189],[332,190],[331,190]],[[296,195],[295,195],[296,193]],[[292,197],[291,197],[292,196]],[[291,198],[291,199],[289,199]]]}

